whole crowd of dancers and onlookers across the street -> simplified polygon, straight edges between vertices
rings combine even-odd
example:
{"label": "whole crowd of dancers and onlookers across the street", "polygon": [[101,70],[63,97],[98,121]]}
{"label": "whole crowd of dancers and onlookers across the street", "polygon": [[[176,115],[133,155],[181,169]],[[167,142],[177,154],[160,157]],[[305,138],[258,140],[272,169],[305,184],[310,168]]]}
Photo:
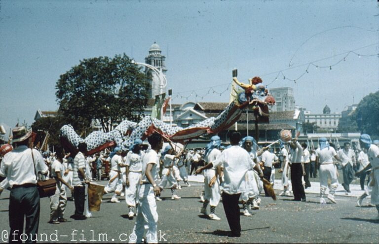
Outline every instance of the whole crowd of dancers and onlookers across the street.
{"label": "whole crowd of dancers and onlookers across the street", "polygon": [[177,190],[190,186],[189,174],[204,175],[200,212],[210,220],[221,220],[216,209],[222,199],[231,237],[241,235],[239,202],[242,202],[244,216],[251,216],[251,210],[259,209],[260,196],[270,196],[263,180],[273,184],[275,168],[281,173],[283,191],[279,196],[293,196],[294,201],[306,202],[304,189],[311,186],[309,178],[318,175],[321,204],[326,200],[337,203],[338,169],[342,171],[345,194],[350,193],[350,184],[358,175],[364,194],[358,198],[357,205],[361,206],[363,199],[371,195],[371,203],[378,209],[375,219],[379,219],[379,143],[373,143],[366,134],[360,138],[362,150],[359,153],[350,148],[350,142],[336,150],[326,138],[319,140],[316,150],[309,151],[306,143],[295,138],[281,143],[280,150],[273,152],[269,146],[260,148],[253,137],[241,138],[238,132],[231,132],[228,145],[226,142],[223,145],[220,137],[213,136],[202,149],[185,149],[186,146],[170,140],[163,147],[164,139],[155,133],[148,142],[136,139],[129,151],[116,146],[86,156],[87,146],[83,142],[78,144],[76,155],[60,147],[54,153],[41,153],[31,149],[31,131],[22,126],[12,132],[13,147],[5,144],[0,149],[0,191],[10,190],[11,233],[23,233],[26,219],[28,238],[38,232],[37,180],[49,177],[57,182],[55,194],[50,197],[49,223],[67,221],[64,214],[69,192],[75,202],[75,213],[71,218],[83,220],[91,217],[88,198],[85,198],[86,184],[105,177],[108,182],[104,194],[113,194],[110,201],[115,204],[124,196],[128,217],[133,219],[136,216],[133,234],[137,239],[130,240],[136,243],[141,243],[143,237],[148,243],[156,243],[156,202],[162,201],[160,193],[169,188],[171,199],[180,200]]}

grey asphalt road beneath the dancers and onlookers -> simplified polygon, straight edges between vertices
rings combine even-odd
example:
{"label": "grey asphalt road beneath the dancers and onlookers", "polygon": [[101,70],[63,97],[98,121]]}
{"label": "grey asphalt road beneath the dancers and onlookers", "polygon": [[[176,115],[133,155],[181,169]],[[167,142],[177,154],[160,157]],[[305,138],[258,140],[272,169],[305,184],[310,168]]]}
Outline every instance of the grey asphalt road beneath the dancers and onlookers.
{"label": "grey asphalt road beneath the dancers and onlookers", "polygon": [[[105,185],[106,182],[101,183]],[[278,197],[277,201],[262,197],[261,208],[252,210],[253,216],[241,216],[241,237],[229,238],[226,236],[229,227],[222,203],[216,210],[220,221],[209,220],[199,213],[201,190],[200,183],[183,187],[178,191],[182,197],[180,200],[171,200],[169,189],[163,191],[163,201],[157,202],[159,243],[379,242],[379,221],[370,219],[377,210],[368,207],[367,200],[365,206],[358,208],[355,198],[338,196],[336,205],[322,207],[319,197],[314,194],[307,195],[306,203],[292,202],[288,197]],[[4,191],[0,197],[1,242],[7,242],[9,231],[8,197],[9,191]],[[101,210],[93,212],[93,217],[86,220],[70,219],[75,207],[74,202],[69,201],[65,213],[69,222],[58,225],[47,223],[49,199],[41,199],[39,234],[42,235],[39,240],[49,243],[126,243],[135,220],[127,218],[128,209],[124,201],[110,203],[111,197],[111,194],[105,195]]]}

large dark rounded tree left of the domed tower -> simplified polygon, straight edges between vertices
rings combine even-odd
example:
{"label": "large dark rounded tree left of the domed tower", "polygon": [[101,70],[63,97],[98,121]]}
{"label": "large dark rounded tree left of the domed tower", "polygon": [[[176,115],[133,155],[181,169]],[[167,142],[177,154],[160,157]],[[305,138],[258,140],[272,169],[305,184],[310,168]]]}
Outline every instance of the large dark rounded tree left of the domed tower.
{"label": "large dark rounded tree left of the domed tower", "polygon": [[127,118],[137,121],[148,102],[149,76],[125,54],[84,59],[56,84],[59,111],[82,134],[97,119],[103,131]]}

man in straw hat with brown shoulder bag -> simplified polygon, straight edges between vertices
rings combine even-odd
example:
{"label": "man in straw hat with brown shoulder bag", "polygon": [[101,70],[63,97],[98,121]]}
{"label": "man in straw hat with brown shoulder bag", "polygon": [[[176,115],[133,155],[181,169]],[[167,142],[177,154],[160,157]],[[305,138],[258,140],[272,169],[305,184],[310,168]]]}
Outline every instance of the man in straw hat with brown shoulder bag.
{"label": "man in straw hat with brown shoulder bag", "polygon": [[21,243],[24,218],[26,243],[36,242],[39,224],[39,194],[37,174],[47,174],[48,168],[42,155],[36,149],[28,148],[32,131],[25,126],[12,130],[13,151],[7,153],[0,166],[0,181],[5,177],[11,187],[9,196],[9,242]]}

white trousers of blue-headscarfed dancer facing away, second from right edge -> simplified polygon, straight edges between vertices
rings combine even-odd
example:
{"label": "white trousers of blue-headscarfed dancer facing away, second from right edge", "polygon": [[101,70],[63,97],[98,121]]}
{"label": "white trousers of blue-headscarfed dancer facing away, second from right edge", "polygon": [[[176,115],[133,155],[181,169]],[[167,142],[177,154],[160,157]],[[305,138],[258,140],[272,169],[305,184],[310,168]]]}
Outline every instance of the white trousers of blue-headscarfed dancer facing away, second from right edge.
{"label": "white trousers of blue-headscarfed dancer facing away, second from right edge", "polygon": [[326,189],[328,187],[328,178],[331,179],[329,188],[329,194],[334,196],[338,186],[337,169],[334,164],[320,164],[319,174],[320,176],[320,195],[325,196]]}

